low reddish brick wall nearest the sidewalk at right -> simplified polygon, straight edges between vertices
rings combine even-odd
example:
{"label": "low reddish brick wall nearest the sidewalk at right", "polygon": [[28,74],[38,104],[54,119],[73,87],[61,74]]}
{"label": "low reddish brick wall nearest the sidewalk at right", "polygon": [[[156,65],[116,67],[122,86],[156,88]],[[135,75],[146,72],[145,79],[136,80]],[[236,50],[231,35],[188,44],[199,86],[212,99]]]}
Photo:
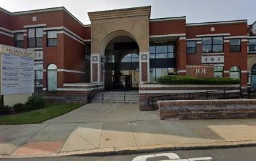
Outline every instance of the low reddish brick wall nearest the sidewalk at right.
{"label": "low reddish brick wall nearest the sidewalk at right", "polygon": [[256,99],[158,101],[161,119],[241,119],[256,117]]}

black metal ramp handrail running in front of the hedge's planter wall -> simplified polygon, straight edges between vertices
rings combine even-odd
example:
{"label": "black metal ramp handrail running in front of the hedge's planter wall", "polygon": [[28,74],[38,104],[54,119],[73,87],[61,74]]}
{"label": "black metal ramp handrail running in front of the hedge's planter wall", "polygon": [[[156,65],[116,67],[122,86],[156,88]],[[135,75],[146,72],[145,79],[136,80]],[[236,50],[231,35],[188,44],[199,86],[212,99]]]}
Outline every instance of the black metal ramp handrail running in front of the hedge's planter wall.
{"label": "black metal ramp handrail running in front of the hedge's planter wall", "polygon": [[[170,95],[155,95],[148,97],[148,105],[152,105],[152,111],[154,111],[154,106],[156,101],[164,101],[164,100],[177,100],[177,99],[192,99],[193,95],[203,95],[201,97],[204,97],[205,99],[216,99],[210,97],[210,93],[223,93],[224,97],[219,97],[218,99],[232,99],[232,98],[237,98],[236,97],[231,97],[230,95],[226,95],[227,91],[235,91],[233,93],[239,93],[239,97],[243,98],[243,91],[242,89],[224,89],[224,90],[214,90],[214,91],[203,91],[203,92],[197,92],[197,93],[175,93],[175,94],[170,94]],[[230,92],[232,93],[232,92]],[[183,96],[183,97],[180,97]],[[161,97],[161,98],[159,98]],[[166,97],[166,98],[162,98]],[[180,97],[180,98],[177,98]],[[151,100],[151,103],[150,103]]]}

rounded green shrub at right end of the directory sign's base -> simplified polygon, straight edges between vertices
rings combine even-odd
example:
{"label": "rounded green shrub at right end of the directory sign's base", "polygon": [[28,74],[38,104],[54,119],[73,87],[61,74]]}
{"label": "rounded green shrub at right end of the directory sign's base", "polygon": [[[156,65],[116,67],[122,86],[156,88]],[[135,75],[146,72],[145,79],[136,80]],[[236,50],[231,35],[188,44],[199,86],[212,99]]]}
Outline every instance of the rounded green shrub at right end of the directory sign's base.
{"label": "rounded green shrub at right end of the directory sign's base", "polygon": [[31,111],[33,109],[40,109],[44,107],[45,101],[40,95],[33,95],[28,98],[28,101],[26,102],[26,108],[27,111]]}

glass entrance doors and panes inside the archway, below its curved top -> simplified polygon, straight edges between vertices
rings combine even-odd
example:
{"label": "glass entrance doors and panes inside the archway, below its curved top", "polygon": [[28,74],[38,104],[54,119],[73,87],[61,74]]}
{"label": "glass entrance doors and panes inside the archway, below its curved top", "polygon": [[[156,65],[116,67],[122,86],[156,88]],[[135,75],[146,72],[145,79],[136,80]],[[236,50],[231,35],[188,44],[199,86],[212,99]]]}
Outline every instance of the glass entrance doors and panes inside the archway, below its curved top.
{"label": "glass entrance doors and panes inside the archway, below its curved top", "polygon": [[139,87],[139,51],[107,50],[105,88],[114,90]]}

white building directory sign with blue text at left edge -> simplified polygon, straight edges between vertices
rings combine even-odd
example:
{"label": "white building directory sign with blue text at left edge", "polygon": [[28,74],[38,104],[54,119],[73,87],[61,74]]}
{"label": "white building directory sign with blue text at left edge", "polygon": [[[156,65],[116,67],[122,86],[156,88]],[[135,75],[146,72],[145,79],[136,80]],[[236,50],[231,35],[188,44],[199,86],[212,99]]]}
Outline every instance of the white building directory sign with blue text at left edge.
{"label": "white building directory sign with blue text at left edge", "polygon": [[34,93],[34,54],[28,50],[0,46],[1,95]]}

